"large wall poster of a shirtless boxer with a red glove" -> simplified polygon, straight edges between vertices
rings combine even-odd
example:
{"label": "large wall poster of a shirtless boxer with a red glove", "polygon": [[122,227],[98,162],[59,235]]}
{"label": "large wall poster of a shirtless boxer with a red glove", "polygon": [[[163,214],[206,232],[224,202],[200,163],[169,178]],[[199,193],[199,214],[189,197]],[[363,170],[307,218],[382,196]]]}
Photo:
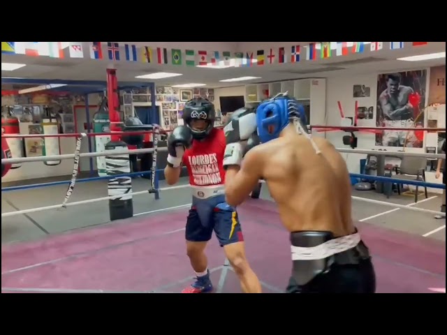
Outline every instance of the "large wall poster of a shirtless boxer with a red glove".
{"label": "large wall poster of a shirtless boxer with a red glove", "polygon": [[[424,126],[427,70],[386,73],[377,79],[376,126]],[[423,147],[423,132],[387,130],[376,133],[376,146]]]}

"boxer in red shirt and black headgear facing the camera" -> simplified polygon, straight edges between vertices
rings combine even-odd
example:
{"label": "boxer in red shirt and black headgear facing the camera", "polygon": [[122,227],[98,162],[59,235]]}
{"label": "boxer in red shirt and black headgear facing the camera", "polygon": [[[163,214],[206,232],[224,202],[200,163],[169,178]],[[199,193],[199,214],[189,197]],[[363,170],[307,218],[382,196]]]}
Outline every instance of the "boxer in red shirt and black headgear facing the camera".
{"label": "boxer in red shirt and black headgear facing the camera", "polygon": [[186,253],[196,272],[196,282],[183,293],[203,293],[213,289],[207,268],[205,247],[216,233],[226,257],[240,279],[242,291],[261,292],[261,284],[245,256],[244,238],[237,211],[225,202],[223,151],[225,135],[214,128],[214,105],[203,98],[188,101],[183,110],[186,126],[178,126],[168,137],[168,185],[179,180],[186,165],[192,189],[192,207],[186,218]]}

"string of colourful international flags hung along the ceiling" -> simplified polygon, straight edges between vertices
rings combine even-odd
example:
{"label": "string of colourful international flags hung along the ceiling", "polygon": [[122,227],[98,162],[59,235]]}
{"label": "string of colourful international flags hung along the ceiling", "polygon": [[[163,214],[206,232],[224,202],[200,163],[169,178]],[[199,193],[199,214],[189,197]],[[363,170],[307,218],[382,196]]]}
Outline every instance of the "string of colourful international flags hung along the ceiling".
{"label": "string of colourful international flags hung along the ceiling", "polygon": [[[302,60],[315,61],[331,57],[383,50],[388,42],[318,42],[309,45],[271,47],[249,52],[182,50],[167,47],[137,47],[119,45],[116,42],[1,42],[2,54],[24,54],[32,57],[90,58],[108,61],[140,61],[147,64],[178,66],[235,66],[251,67],[268,64],[298,63]],[[390,50],[404,48],[405,43],[413,47],[427,42],[389,42]],[[87,48],[86,48],[87,47]],[[304,50],[303,50],[304,49]],[[86,57],[87,54],[87,57]]]}

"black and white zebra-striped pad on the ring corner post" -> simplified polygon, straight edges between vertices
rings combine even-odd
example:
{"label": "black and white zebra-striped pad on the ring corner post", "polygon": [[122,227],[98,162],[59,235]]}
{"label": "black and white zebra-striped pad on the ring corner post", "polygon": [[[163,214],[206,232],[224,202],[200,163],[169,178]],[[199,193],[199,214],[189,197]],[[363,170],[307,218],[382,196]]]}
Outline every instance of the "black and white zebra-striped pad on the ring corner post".
{"label": "black and white zebra-striped pad on the ring corner post", "polygon": [[[127,144],[122,141],[108,142],[105,144],[105,152],[122,151],[127,149]],[[117,174],[131,173],[131,161],[129,154],[119,156],[105,156],[105,169],[110,177]],[[109,200],[110,221],[133,216],[132,178],[121,176],[110,178],[107,184],[108,196],[122,195],[121,198]]]}

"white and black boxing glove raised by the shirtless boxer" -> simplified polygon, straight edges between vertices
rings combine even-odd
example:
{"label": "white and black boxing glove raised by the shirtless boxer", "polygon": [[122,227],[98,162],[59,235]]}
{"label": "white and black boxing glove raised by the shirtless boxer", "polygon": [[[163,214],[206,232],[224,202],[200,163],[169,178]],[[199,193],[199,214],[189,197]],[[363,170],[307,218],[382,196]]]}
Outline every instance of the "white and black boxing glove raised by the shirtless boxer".
{"label": "white and black boxing glove raised by the shirtless boxer", "polygon": [[223,168],[228,165],[241,165],[249,137],[256,131],[254,109],[241,108],[231,114],[228,124],[223,128],[226,138]]}

